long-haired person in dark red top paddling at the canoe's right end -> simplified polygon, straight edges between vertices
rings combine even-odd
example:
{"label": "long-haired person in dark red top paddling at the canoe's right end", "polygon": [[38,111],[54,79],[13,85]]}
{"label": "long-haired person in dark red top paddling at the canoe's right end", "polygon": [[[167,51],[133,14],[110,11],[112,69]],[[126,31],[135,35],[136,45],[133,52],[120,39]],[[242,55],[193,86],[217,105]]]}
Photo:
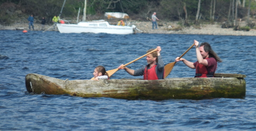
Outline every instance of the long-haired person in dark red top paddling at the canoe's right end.
{"label": "long-haired person in dark red top paddling at the canoe's right end", "polygon": [[195,78],[212,78],[217,69],[217,62],[222,62],[208,42],[203,42],[199,46],[199,42],[194,40],[196,58],[198,61],[190,62],[184,58],[175,59],[176,62],[182,61],[189,68],[195,69]]}

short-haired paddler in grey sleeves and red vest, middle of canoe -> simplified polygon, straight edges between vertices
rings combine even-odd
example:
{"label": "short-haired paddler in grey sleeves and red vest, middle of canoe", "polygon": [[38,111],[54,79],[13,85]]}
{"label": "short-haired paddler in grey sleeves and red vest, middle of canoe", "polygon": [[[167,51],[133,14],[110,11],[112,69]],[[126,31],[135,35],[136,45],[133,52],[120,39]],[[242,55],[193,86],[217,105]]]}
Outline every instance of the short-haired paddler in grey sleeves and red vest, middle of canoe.
{"label": "short-haired paddler in grey sleeves and red vest, middle of canoe", "polygon": [[[123,67],[123,64],[119,66],[118,69],[124,69],[126,72],[133,76],[143,75],[144,80],[160,80],[164,77],[164,62],[162,56],[160,55],[161,47],[158,46],[157,51],[147,54],[146,61],[147,65],[144,65],[140,69],[132,70],[127,67]],[[150,52],[154,49],[150,49]]]}

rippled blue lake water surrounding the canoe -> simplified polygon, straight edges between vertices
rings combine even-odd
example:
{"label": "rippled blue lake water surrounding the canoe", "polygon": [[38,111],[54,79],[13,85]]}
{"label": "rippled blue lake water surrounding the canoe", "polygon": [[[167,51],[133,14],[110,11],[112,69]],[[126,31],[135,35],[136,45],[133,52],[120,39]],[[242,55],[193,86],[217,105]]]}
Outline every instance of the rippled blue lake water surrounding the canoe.
{"label": "rippled blue lake water surrounding the canoe", "polygon": [[[161,46],[165,64],[196,39],[209,42],[223,62],[218,73],[247,75],[243,99],[129,101],[70,95],[29,94],[25,75],[91,79],[97,65],[106,70]],[[0,30],[0,130],[256,130],[256,37],[175,34],[60,34],[54,31]],[[183,57],[196,61],[192,48]],[[140,68],[145,58],[127,67]],[[168,78],[193,77],[175,64]],[[112,79],[132,77],[124,70]]]}

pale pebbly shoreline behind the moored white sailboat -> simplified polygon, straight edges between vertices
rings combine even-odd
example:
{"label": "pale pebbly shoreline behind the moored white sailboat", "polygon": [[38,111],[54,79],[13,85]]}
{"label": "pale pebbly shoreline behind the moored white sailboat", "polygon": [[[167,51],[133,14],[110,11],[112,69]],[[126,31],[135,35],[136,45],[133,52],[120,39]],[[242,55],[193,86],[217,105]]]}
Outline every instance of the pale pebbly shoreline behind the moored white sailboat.
{"label": "pale pebbly shoreline behind the moored white sailboat", "polygon": [[[109,21],[109,20],[107,20]],[[244,22],[245,23],[245,22]],[[241,24],[244,25],[244,23]],[[110,23],[114,25],[113,23]],[[137,29],[143,31],[140,32],[136,30],[136,33],[145,34],[193,34],[193,35],[230,35],[230,36],[256,36],[256,29],[250,29],[250,31],[233,30],[233,28],[221,28],[220,24],[201,24],[199,28],[193,26],[184,27],[181,30],[175,31],[170,30],[170,26],[178,27],[177,22],[158,22],[158,29],[152,29],[151,21],[131,21],[130,25],[135,25]],[[161,25],[161,26],[160,26]],[[44,30],[50,28],[52,25],[45,25]],[[41,24],[34,24],[35,30],[41,30]],[[28,23],[17,23],[11,26],[0,25],[0,30],[29,30]],[[53,28],[47,31],[55,31]]]}

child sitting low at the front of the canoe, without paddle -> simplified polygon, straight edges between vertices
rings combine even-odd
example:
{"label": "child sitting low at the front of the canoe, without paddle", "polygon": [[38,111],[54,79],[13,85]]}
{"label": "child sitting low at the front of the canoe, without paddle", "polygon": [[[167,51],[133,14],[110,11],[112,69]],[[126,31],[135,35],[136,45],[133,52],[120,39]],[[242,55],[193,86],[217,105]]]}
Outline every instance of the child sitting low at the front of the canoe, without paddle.
{"label": "child sitting low at the front of the canoe, without paddle", "polygon": [[94,69],[93,75],[96,81],[99,81],[100,79],[109,79],[109,74],[107,74],[105,68],[101,65]]}

